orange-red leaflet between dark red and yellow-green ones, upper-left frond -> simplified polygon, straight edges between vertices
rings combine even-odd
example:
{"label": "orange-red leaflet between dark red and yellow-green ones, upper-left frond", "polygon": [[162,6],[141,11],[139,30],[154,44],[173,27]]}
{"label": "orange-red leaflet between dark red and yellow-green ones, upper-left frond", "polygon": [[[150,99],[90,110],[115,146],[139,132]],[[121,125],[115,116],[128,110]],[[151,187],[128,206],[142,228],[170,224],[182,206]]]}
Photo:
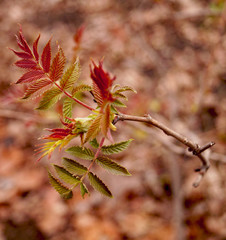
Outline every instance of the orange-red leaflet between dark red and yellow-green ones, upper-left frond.
{"label": "orange-red leaflet between dark red and yellow-green ones, upper-left frond", "polygon": [[66,59],[65,59],[63,50],[62,48],[59,47],[58,52],[54,57],[51,68],[50,68],[50,78],[53,81],[57,81],[63,74],[65,62],[66,62]]}

